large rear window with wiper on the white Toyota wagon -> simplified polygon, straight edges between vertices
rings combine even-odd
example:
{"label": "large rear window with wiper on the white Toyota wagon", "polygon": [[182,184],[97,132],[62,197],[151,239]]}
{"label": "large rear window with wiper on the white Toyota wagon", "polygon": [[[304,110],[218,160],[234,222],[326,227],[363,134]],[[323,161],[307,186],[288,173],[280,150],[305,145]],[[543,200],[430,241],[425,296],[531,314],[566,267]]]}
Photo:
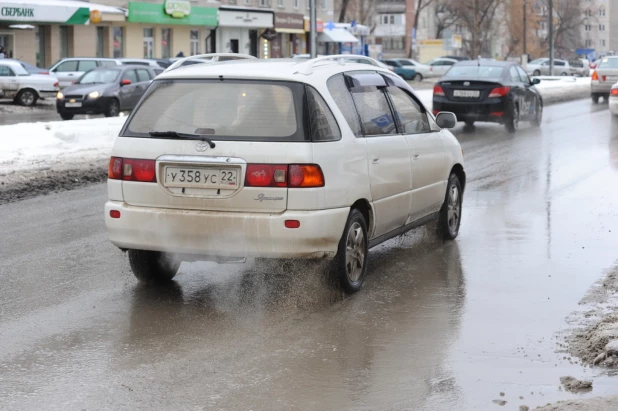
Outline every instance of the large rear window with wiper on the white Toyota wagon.
{"label": "large rear window with wiper on the white Toyota wagon", "polygon": [[159,80],[129,118],[123,135],[152,131],[208,134],[220,140],[307,141],[301,83],[253,80]]}

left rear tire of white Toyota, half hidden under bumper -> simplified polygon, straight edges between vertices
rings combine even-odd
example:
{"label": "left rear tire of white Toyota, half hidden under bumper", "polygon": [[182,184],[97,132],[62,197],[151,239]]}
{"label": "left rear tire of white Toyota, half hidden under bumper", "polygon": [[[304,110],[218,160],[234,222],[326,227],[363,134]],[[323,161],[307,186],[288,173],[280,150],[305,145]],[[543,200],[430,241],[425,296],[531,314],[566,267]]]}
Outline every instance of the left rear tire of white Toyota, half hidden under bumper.
{"label": "left rear tire of white Toyota, half hidden under bumper", "polygon": [[180,261],[172,261],[157,251],[129,250],[133,275],[145,284],[165,284],[174,278]]}

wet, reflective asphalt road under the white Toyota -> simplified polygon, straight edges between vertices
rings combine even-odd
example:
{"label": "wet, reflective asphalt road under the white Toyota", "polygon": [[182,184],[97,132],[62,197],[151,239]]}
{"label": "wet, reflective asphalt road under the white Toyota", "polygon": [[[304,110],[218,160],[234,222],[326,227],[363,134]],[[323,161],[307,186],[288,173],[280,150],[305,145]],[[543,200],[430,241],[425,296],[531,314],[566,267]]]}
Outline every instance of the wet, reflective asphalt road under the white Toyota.
{"label": "wet, reflective asphalt road under the white Toyota", "polygon": [[617,259],[618,123],[581,100],[540,130],[456,134],[459,238],[378,247],[350,298],[251,262],[141,287],[107,242],[104,185],[0,206],[0,408],[517,410],[575,397],[563,375],[617,394],[556,342]]}

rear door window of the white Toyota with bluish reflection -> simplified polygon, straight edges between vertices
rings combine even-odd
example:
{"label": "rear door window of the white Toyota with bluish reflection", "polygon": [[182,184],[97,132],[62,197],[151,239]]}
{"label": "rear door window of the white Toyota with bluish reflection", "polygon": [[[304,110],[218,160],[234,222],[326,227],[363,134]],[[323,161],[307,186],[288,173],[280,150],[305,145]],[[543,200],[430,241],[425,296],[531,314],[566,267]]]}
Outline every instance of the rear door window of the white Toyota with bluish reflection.
{"label": "rear door window of the white Toyota with bluish reflection", "polygon": [[376,86],[354,87],[352,99],[365,136],[397,134],[384,92]]}

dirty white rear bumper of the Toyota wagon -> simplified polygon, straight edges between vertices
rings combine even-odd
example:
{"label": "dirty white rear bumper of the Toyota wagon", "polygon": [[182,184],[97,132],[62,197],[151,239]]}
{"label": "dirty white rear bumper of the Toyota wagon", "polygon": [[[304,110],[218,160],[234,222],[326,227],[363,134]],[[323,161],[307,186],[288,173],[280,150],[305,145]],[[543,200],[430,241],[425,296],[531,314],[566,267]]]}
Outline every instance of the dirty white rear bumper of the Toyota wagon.
{"label": "dirty white rear bumper of the Toyota wagon", "polygon": [[[111,218],[110,211],[120,211]],[[233,213],[105,204],[111,242],[122,249],[165,251],[211,257],[333,258],[349,208]],[[296,229],[286,220],[300,221]]]}

